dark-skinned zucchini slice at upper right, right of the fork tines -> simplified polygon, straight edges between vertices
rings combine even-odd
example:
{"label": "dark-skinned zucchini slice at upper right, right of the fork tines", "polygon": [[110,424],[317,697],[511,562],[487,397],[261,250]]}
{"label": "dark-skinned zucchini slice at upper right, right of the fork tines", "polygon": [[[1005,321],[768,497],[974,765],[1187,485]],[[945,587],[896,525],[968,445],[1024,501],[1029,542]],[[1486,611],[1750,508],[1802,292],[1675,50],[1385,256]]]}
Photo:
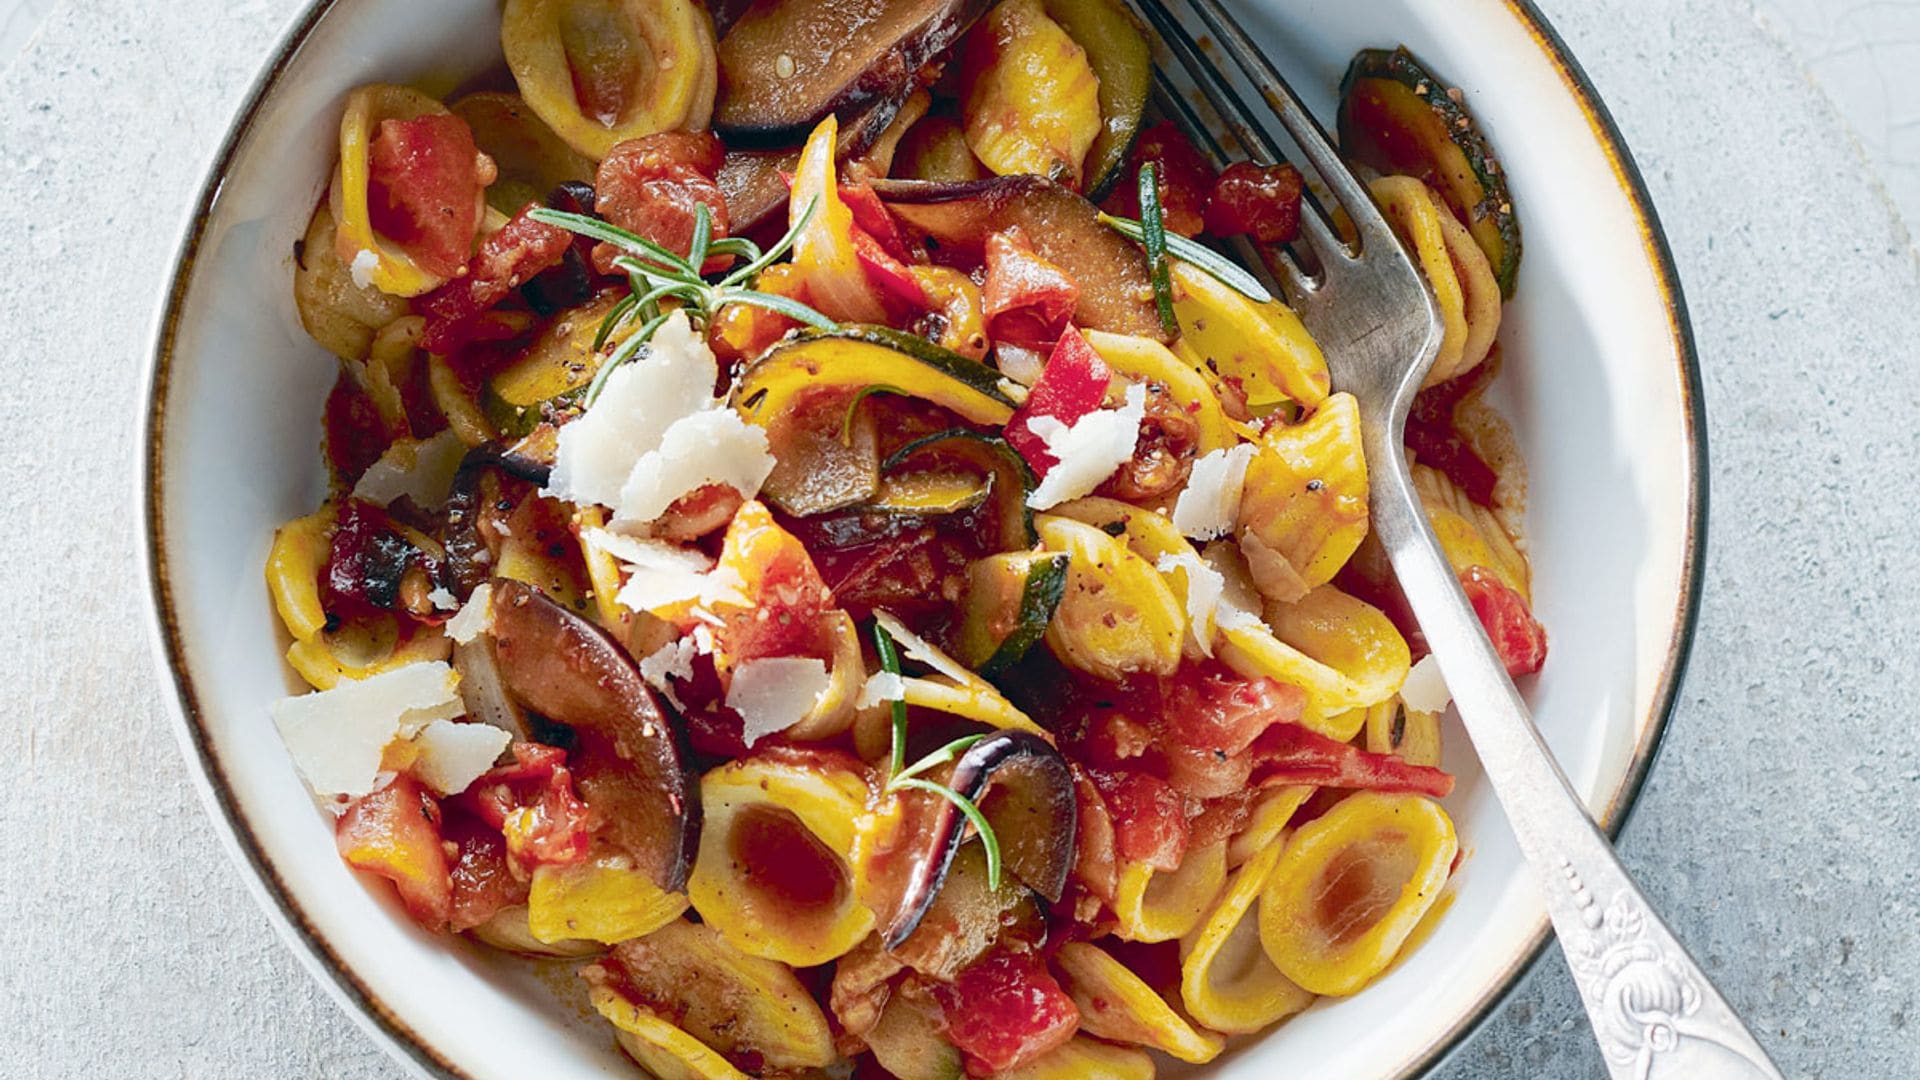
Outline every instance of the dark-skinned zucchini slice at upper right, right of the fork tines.
{"label": "dark-skinned zucchini slice at upper right, right of the fork tines", "polygon": [[1521,221],[1507,179],[1467,108],[1405,46],[1354,56],[1340,81],[1340,150],[1440,192],[1486,252],[1500,294],[1513,296]]}

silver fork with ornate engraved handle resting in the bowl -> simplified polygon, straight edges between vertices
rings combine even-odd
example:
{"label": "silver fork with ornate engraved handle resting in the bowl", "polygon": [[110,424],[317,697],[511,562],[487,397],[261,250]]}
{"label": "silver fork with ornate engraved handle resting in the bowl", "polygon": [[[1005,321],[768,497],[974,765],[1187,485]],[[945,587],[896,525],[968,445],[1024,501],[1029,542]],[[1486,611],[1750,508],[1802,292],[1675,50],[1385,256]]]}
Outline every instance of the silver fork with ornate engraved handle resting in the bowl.
{"label": "silver fork with ornate engraved handle resting in the bowl", "polygon": [[1334,386],[1359,400],[1373,532],[1392,557],[1494,794],[1546,892],[1609,1074],[1778,1078],[1766,1051],[1653,913],[1588,817],[1421,511],[1402,432],[1442,338],[1440,311],[1421,271],[1327,133],[1233,17],[1215,0],[1185,0],[1181,8],[1198,21],[1200,37],[1156,0],[1137,4],[1246,150],[1283,160],[1273,133],[1225,75],[1227,63],[1263,98],[1354,221],[1357,242],[1348,246],[1315,206],[1302,208],[1300,236],[1319,263],[1313,275],[1286,252],[1271,256],[1294,309],[1327,354]]}

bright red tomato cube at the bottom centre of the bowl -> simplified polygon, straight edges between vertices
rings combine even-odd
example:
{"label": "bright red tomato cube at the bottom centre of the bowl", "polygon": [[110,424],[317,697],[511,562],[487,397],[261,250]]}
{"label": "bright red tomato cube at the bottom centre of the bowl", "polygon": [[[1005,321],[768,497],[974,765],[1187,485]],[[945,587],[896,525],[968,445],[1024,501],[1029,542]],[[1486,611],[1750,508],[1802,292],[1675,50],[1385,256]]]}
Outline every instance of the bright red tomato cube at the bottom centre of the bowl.
{"label": "bright red tomato cube at the bottom centre of the bowl", "polygon": [[1079,1007],[1033,953],[995,949],[935,984],[933,997],[973,1076],[1018,1068],[1079,1030]]}

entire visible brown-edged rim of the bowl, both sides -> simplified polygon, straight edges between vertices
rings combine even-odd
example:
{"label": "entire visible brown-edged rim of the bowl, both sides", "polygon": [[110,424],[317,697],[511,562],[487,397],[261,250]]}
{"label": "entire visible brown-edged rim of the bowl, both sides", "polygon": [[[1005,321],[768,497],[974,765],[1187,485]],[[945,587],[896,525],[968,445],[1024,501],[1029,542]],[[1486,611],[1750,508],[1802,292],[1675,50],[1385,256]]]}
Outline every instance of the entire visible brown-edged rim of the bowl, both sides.
{"label": "entire visible brown-edged rim of the bowl, both sides", "polygon": [[[167,382],[171,379],[173,350],[180,313],[186,304],[194,261],[200,254],[205,227],[211,219],[213,204],[227,181],[246,135],[259,117],[269,94],[276,88],[294,56],[307,42],[315,27],[334,10],[338,0],[307,0],[307,4],[282,27],[269,60],[253,75],[232,119],[213,150],[204,169],[204,179],[194,196],[192,209],[186,211],[179,240],[173,248],[173,265],[167,277],[163,304],[156,313],[150,331],[152,352],[146,363],[144,388],[138,398],[140,407],[140,454],[134,469],[134,505],[142,523],[142,538],[136,542],[136,555],[142,577],[148,582],[148,626],[154,646],[154,661],[161,684],[171,684],[173,694],[161,694],[165,711],[173,719],[180,751],[190,763],[194,786],[215,822],[215,832],[228,849],[228,855],[246,871],[242,876],[255,903],[265,911],[269,922],[328,992],[330,997],[396,1061],[422,1076],[468,1076],[453,1065],[440,1049],[415,1032],[399,1013],[388,1007],[353,972],[313,926],[300,901],[290,894],[284,880],[267,859],[252,824],[240,813],[236,799],[225,778],[225,769],[213,749],[213,740],[202,721],[198,694],[184,663],[180,623],[175,609],[173,588],[167,569],[165,530],[161,521],[165,490],[165,436],[167,436]],[[1680,273],[1661,227],[1653,198],[1645,179],[1634,163],[1634,156],[1620,135],[1619,125],[1601,102],[1592,79],[1569,50],[1565,38],[1553,29],[1534,0],[1500,0],[1507,13],[1517,19],[1536,48],[1559,73],[1567,92],[1580,106],[1582,115],[1594,135],[1596,144],[1605,154],[1615,173],[1615,183],[1626,196],[1634,217],[1640,223],[1642,246],[1653,269],[1655,284],[1667,306],[1668,332],[1672,334],[1674,356],[1678,357],[1678,388],[1682,398],[1682,427],[1688,452],[1688,513],[1686,550],[1682,553],[1680,596],[1674,609],[1672,636],[1667,646],[1667,661],[1647,715],[1644,734],[1634,748],[1626,773],[1613,792],[1599,824],[1609,838],[1619,838],[1620,828],[1638,805],[1640,794],[1651,773],[1653,761],[1665,744],[1668,723],[1678,705],[1680,684],[1693,650],[1693,634],[1699,623],[1701,586],[1705,580],[1707,550],[1707,503],[1709,503],[1709,463],[1707,463],[1707,409],[1701,380],[1699,352],[1693,329],[1688,319],[1686,296],[1680,286]],[[1411,1061],[1402,1076],[1421,1076],[1457,1053],[1480,1026],[1513,995],[1523,976],[1540,961],[1551,926],[1542,913],[1532,932],[1532,942],[1523,949],[1513,965],[1501,974],[1500,990],[1486,995],[1469,1015],[1461,1017],[1432,1045]]]}

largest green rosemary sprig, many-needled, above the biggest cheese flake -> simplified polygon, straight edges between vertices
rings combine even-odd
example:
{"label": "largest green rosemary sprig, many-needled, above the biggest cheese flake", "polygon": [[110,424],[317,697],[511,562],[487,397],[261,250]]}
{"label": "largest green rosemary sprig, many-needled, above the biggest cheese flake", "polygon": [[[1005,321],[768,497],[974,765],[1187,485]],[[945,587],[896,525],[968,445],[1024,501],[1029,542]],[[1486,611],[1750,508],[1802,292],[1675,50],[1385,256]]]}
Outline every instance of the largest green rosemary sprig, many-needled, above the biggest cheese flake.
{"label": "largest green rosemary sprig, many-needled, above the biggest cheese flake", "polygon": [[[634,327],[634,332],[622,338],[601,363],[599,371],[593,373],[580,398],[582,407],[591,405],[599,398],[607,386],[607,379],[622,363],[634,359],[674,311],[685,311],[695,329],[701,329],[712,323],[722,307],[745,304],[749,307],[778,311],[814,329],[837,331],[839,323],[806,304],[753,288],[760,273],[793,248],[801,229],[806,229],[806,223],[814,219],[816,208],[818,200],[810,202],[799,221],[787,229],[785,236],[762,252],[758,244],[745,236],[722,236],[716,240],[712,211],[707,206],[697,206],[693,211],[693,240],[687,244],[685,256],[586,213],[568,213],[551,208],[530,211],[528,217],[534,221],[557,225],[568,233],[618,248],[620,254],[612,259],[612,265],[626,273],[628,279],[628,294],[607,311],[599,331],[593,334],[593,350],[607,348],[607,342],[626,327]],[[712,256],[741,259],[741,265],[722,275],[720,281],[707,281],[701,267]]]}

